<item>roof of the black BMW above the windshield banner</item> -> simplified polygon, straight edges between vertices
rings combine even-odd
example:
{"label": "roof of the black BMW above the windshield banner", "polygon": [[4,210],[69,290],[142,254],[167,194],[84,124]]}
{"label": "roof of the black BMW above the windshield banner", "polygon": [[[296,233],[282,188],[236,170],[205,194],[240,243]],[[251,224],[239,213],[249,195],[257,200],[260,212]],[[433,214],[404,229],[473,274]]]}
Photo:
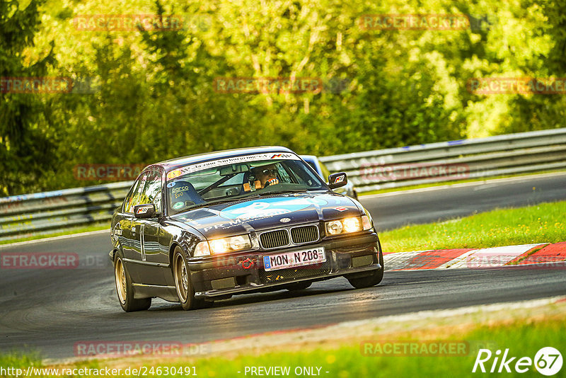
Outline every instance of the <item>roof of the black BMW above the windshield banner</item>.
{"label": "roof of the black BMW above the windshield banner", "polygon": [[205,152],[204,154],[195,154],[190,156],[183,156],[175,159],[160,161],[156,164],[151,164],[151,166],[146,167],[151,168],[155,166],[161,166],[165,171],[171,171],[175,168],[180,168],[187,166],[189,164],[202,163],[204,161],[216,160],[216,159],[226,159],[234,156],[243,156],[250,154],[269,154],[271,152],[291,152],[293,151],[287,147],[282,146],[262,146],[262,147],[247,147],[241,149],[225,149],[223,151]]}

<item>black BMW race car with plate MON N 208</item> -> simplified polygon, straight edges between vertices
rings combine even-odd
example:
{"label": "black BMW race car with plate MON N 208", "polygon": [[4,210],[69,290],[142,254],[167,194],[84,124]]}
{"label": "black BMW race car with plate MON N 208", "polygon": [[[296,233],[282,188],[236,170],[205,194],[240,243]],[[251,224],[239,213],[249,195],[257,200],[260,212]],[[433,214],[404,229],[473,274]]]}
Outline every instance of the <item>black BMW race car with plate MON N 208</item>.
{"label": "black BMW race car with plate MON N 208", "polygon": [[117,297],[125,311],[159,297],[196,309],[232,294],[304,290],[344,276],[383,278],[371,215],[284,147],[233,149],[152,164],[111,224]]}

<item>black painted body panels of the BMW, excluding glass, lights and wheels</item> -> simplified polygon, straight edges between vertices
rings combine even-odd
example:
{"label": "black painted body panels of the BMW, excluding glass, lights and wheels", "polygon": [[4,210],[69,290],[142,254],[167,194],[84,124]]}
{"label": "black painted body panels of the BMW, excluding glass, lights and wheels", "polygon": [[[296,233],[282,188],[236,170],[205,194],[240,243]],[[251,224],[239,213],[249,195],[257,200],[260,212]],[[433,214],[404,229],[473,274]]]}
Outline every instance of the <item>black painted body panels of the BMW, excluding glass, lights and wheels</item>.
{"label": "black painted body panels of the BMW, excluding glass, lights and wheels", "polygon": [[[214,154],[190,156],[184,159],[165,161],[153,164],[148,170],[158,170],[161,173],[162,185],[161,195],[166,193],[166,173],[175,168],[187,164],[196,164],[202,161],[226,158],[226,156],[241,156],[257,153],[293,153],[284,147],[264,147],[257,149],[239,149],[221,151]],[[294,154],[294,153],[293,153]],[[140,173],[140,176],[141,174]],[[132,186],[133,187],[133,186]],[[325,280],[340,275],[364,275],[368,271],[383,269],[381,247],[379,239],[372,228],[369,231],[359,231],[355,234],[340,236],[325,236],[324,222],[348,216],[359,216],[366,214],[359,202],[333,193],[330,189],[318,190],[315,193],[289,193],[279,195],[266,195],[260,200],[267,198],[306,199],[318,198],[328,202],[327,205],[313,205],[299,211],[282,214],[282,216],[270,216],[260,219],[247,219],[243,222],[234,222],[224,219],[219,214],[222,210],[231,207],[234,203],[243,205],[258,201],[258,198],[250,200],[238,200],[236,202],[207,207],[197,207],[194,210],[175,214],[172,217],[167,214],[166,206],[163,206],[158,217],[141,219],[134,214],[124,211],[124,205],[119,207],[112,217],[111,238],[114,248],[110,251],[110,258],[115,258],[117,251],[122,251],[127,271],[134,283],[134,297],[161,297],[171,302],[178,302],[175,292],[171,260],[175,246],[180,246],[190,265],[190,278],[195,286],[195,297],[221,297],[226,294],[239,292],[251,292],[281,287],[280,285],[300,280]],[[164,198],[161,203],[164,202]],[[340,210],[336,210],[339,207]],[[369,215],[369,214],[368,214]],[[281,218],[289,218],[289,222],[279,222]],[[119,224],[119,226],[117,226]],[[316,243],[299,246],[284,247],[282,249],[264,250],[261,247],[253,251],[241,251],[230,253],[226,256],[192,257],[195,246],[200,241],[214,239],[215,237],[233,236],[238,234],[250,234],[258,237],[258,233],[266,230],[290,228],[296,225],[316,224],[319,231],[319,239]],[[121,229],[119,232],[115,232]],[[266,282],[265,270],[263,270],[262,256],[287,252],[301,251],[305,248],[324,246],[327,254],[328,267],[320,274],[294,277],[287,280],[273,280]],[[352,258],[357,256],[374,256],[371,265],[352,268]],[[309,265],[299,267],[301,273],[311,268]],[[328,272],[326,270],[329,270]],[[277,271],[274,271],[277,275]],[[260,277],[263,275],[263,279]],[[221,280],[233,277],[234,287],[214,289],[213,280]]]}

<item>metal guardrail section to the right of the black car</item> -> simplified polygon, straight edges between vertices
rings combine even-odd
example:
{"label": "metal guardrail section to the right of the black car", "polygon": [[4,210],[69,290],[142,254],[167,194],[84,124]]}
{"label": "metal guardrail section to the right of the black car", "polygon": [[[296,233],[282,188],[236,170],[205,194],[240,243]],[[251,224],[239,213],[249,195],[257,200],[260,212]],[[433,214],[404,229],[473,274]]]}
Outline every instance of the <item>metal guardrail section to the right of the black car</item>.
{"label": "metal guardrail section to the right of the black car", "polygon": [[566,128],[321,157],[357,192],[566,168]]}

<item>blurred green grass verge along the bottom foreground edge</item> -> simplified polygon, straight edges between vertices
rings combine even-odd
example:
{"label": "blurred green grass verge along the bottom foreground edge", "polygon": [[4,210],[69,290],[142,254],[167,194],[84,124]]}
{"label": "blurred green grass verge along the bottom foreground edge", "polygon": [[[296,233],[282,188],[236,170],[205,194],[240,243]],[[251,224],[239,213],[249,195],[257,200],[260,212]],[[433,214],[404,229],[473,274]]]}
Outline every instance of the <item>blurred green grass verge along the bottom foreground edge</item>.
{"label": "blurred green grass verge along the bottom foreground edge", "polygon": [[[475,359],[477,357],[478,348],[488,348],[493,355],[489,362],[485,362],[484,366],[489,371],[495,350],[505,350],[509,348],[507,358],[516,357],[509,367],[512,373],[504,373],[505,377],[540,377],[538,372],[529,367],[529,372],[519,374],[513,371],[514,363],[520,357],[530,357],[534,359],[536,352],[547,346],[552,346],[562,353],[566,350],[566,338],[563,337],[566,332],[566,316],[562,314],[554,318],[546,319],[529,319],[515,320],[512,323],[498,323],[493,325],[468,326],[468,328],[454,327],[441,331],[420,331],[419,333],[399,333],[388,335],[386,337],[374,339],[352,339],[344,342],[340,346],[319,347],[318,349],[306,348],[305,350],[281,351],[275,353],[259,353],[250,352],[238,353],[235,357],[210,357],[200,358],[197,360],[184,360],[175,362],[166,362],[166,360],[152,361],[146,360],[141,362],[147,369],[146,377],[158,377],[158,374],[151,374],[151,366],[157,367],[195,367],[194,371],[199,377],[250,377],[250,373],[244,374],[246,367],[291,367],[289,377],[296,377],[294,369],[296,367],[320,367],[320,376],[322,377],[338,377],[338,378],[364,378],[364,377],[470,377]],[[364,355],[362,353],[362,345],[366,341],[371,341],[373,345],[377,341],[386,343],[388,341],[403,341],[425,343],[429,341],[445,341],[452,340],[455,342],[468,343],[465,355],[410,355],[410,356],[393,356],[393,355]],[[483,345],[483,346],[480,346]],[[500,359],[499,359],[500,360]],[[93,361],[76,362],[69,367],[91,367],[109,368],[116,366],[117,361],[104,362]],[[20,367],[25,368],[33,363],[35,367],[40,367],[40,362],[30,357],[14,358],[14,355],[0,356],[1,367]],[[108,364],[108,365],[107,365]],[[127,360],[122,360],[120,366],[124,367],[141,367],[140,363],[129,364]],[[60,368],[61,366],[59,366]],[[566,367],[562,367],[564,372]],[[163,371],[163,370],[162,370]],[[192,372],[193,370],[191,370]],[[316,370],[315,370],[316,371]],[[241,372],[241,373],[238,373]],[[327,373],[328,372],[328,373]],[[482,374],[483,376],[500,376],[501,374]],[[133,376],[130,374],[130,376]],[[165,374],[161,374],[161,377]],[[192,376],[192,375],[191,375]],[[560,373],[556,375],[559,377]],[[41,377],[36,375],[36,377]],[[45,377],[45,375],[43,375]],[[179,375],[177,375],[179,377]]]}

